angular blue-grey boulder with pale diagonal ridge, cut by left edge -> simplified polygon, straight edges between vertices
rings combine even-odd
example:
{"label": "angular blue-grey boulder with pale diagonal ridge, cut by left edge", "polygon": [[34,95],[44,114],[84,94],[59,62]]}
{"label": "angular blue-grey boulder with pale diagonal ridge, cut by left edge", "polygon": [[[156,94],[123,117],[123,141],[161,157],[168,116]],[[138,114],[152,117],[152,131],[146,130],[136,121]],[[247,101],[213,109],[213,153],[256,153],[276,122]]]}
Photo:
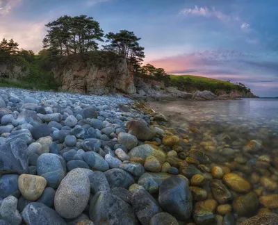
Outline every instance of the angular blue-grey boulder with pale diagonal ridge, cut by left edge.
{"label": "angular blue-grey boulder with pale diagonal ridge, cut by left edge", "polygon": [[24,140],[15,139],[0,145],[0,174],[28,172],[27,145]]}

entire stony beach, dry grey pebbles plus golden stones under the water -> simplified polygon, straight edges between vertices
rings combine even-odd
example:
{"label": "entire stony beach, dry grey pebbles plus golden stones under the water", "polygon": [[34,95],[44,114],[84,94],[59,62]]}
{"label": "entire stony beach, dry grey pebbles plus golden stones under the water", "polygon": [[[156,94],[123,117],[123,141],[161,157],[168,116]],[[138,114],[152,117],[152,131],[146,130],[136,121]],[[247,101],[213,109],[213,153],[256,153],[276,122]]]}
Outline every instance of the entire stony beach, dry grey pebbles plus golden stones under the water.
{"label": "entire stony beach, dry grey pebbles plus golden stones under the water", "polygon": [[216,129],[120,94],[0,96],[0,225],[278,224],[276,119]]}

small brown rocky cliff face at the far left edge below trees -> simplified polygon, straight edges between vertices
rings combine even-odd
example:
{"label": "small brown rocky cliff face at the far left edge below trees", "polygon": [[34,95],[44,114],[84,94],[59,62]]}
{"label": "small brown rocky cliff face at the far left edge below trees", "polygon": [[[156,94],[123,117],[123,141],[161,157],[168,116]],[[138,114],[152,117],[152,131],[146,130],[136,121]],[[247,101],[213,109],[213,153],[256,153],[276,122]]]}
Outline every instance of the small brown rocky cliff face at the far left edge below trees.
{"label": "small brown rocky cliff face at the far left edge below trees", "polygon": [[0,78],[17,79],[28,76],[29,69],[14,60],[0,60]]}

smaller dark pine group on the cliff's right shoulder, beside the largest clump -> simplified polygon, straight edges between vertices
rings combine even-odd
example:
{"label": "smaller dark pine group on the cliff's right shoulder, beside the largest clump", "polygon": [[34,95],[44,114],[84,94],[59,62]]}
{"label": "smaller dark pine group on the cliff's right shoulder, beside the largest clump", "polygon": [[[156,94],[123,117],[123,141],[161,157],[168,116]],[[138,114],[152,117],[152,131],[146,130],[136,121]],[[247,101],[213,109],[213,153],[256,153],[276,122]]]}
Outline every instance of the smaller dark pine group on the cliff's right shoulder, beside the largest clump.
{"label": "smaller dark pine group on the cliff's right shoulder, beside the largest clump", "polygon": [[107,38],[106,42],[110,42],[110,44],[104,45],[104,50],[117,53],[128,59],[133,65],[138,65],[142,62],[142,58],[145,58],[145,48],[140,47],[138,43],[141,38],[136,37],[132,31],[109,32],[105,38]]}

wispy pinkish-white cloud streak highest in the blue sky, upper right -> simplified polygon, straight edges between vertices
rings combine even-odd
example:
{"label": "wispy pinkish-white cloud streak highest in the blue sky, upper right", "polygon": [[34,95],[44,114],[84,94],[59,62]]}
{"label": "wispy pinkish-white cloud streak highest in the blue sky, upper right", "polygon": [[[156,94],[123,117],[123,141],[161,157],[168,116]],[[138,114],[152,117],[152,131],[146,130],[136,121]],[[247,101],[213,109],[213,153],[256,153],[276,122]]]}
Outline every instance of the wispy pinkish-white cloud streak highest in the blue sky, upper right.
{"label": "wispy pinkish-white cloud streak highest in the blue sky, upper right", "polygon": [[231,22],[231,21],[239,21],[239,17],[234,15],[226,15],[223,12],[220,12],[218,10],[215,10],[213,7],[212,9],[209,9],[207,7],[197,7],[195,8],[184,8],[181,10],[181,13],[184,15],[199,15],[203,17],[215,17],[220,19],[222,22]]}

